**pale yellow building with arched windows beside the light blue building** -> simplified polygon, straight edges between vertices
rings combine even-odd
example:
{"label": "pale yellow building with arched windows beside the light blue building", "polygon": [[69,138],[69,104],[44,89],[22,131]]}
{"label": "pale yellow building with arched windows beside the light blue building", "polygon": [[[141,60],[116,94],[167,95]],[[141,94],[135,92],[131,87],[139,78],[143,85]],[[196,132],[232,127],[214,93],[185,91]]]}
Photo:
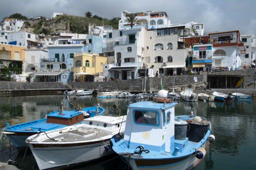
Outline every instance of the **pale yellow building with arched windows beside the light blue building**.
{"label": "pale yellow building with arched windows beside the light blue building", "polygon": [[74,80],[80,78],[80,81],[83,82],[86,78],[88,81],[93,81],[94,75],[103,72],[103,64],[106,64],[107,59],[107,57],[92,53],[74,53],[74,67],[71,68],[71,71],[74,74],[85,73],[85,75],[74,75]]}

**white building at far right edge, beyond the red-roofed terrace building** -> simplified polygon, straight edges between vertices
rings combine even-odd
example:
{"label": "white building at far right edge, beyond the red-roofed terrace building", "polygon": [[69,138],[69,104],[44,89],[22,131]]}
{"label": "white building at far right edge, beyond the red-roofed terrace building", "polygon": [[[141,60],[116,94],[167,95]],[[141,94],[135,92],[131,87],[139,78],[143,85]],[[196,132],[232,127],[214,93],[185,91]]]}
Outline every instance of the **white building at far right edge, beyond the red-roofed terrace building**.
{"label": "white building at far right edge, beyond the red-roofed terrace building", "polygon": [[247,68],[256,59],[256,37],[255,35],[241,35],[246,53],[242,54],[242,65],[247,65]]}

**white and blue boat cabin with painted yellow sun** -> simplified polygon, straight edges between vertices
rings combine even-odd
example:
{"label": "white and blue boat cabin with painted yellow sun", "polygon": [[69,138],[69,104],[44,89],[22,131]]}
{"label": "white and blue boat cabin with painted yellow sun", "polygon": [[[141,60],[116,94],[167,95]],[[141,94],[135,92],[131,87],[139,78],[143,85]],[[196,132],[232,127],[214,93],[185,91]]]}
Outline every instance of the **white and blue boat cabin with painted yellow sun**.
{"label": "white and blue boat cabin with painted yellow sun", "polygon": [[174,152],[174,106],[177,103],[138,102],[128,106],[124,140],[128,148],[143,146]]}

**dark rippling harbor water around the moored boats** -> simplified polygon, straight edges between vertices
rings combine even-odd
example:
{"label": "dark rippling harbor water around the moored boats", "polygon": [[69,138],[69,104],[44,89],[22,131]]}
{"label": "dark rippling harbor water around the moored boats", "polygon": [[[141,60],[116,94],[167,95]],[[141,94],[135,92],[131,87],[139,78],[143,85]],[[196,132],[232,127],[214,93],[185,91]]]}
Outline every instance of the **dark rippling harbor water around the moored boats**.
{"label": "dark rippling harbor water around the moored boats", "polygon": [[[106,110],[104,115],[108,116],[117,115],[111,109],[115,102],[120,103],[120,115],[126,115],[127,105],[136,100],[96,98],[94,95],[80,96],[78,99],[80,107],[96,106],[99,103]],[[68,98],[62,95],[0,97],[0,127],[5,127],[6,123],[15,125],[42,119],[47,113],[58,110],[60,104],[63,104],[64,110],[73,109]],[[206,158],[194,170],[255,169],[256,98],[234,102],[182,101],[175,107],[175,115],[190,115],[191,111],[194,115],[210,119],[212,133],[216,137]],[[22,162],[24,152],[19,153],[6,135],[3,135],[0,143],[0,162],[14,160],[20,169],[38,169],[31,152],[26,153]],[[112,155],[72,169],[126,170],[127,166],[119,157]]]}

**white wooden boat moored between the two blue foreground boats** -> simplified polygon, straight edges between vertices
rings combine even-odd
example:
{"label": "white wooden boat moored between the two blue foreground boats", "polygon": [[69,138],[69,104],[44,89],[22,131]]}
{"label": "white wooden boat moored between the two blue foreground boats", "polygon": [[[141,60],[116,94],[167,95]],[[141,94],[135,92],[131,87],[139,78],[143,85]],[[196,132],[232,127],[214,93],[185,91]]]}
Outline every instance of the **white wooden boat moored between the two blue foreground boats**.
{"label": "white wooden boat moored between the two blue foreground boats", "polygon": [[90,162],[113,154],[109,143],[113,135],[124,132],[126,116],[96,116],[85,119],[84,124],[39,132],[28,137],[40,170],[61,168]]}

